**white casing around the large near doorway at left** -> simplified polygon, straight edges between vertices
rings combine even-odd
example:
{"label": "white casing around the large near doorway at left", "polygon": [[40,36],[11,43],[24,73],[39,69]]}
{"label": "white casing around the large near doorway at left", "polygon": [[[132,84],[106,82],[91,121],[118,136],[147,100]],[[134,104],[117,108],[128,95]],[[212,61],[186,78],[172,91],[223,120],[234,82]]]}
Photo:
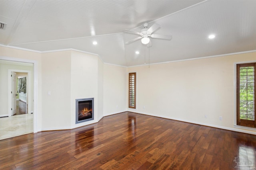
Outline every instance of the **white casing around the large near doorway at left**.
{"label": "white casing around the large near doorway at left", "polygon": [[[22,62],[22,63],[32,63],[33,64],[33,73],[34,73],[34,80],[33,80],[34,81],[33,131],[34,131],[34,133],[37,133],[38,131],[40,131],[40,129],[38,129],[38,62],[35,60],[27,60],[27,59],[4,57],[4,56],[0,56],[0,60],[17,61],[17,62]],[[8,81],[9,81],[9,79],[10,78],[8,78]],[[10,98],[10,93],[8,95],[8,98]],[[10,99],[8,99],[8,102],[9,101],[10,101]],[[10,109],[9,109],[9,111],[10,111]]]}

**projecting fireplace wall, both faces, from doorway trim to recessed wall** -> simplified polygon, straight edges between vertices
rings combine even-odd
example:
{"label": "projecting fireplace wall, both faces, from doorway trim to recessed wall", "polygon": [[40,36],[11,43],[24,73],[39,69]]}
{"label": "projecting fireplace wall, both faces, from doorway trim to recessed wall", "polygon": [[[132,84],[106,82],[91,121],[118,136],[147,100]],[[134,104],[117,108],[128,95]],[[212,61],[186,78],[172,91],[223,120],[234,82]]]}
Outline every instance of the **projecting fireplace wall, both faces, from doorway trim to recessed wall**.
{"label": "projecting fireplace wall, both faces, from doorway trim to recessed wall", "polygon": [[[42,130],[72,129],[103,117],[103,63],[78,51],[42,54]],[[94,98],[94,120],[76,124],[76,99]]]}

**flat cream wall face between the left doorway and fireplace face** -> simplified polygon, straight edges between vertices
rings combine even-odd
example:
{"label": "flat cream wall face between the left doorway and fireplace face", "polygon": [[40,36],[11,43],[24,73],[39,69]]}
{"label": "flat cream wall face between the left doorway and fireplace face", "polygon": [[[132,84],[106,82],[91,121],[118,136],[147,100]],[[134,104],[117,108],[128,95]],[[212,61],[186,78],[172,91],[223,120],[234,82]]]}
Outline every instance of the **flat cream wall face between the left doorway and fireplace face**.
{"label": "flat cream wall face between the left doorway and fireplace face", "polygon": [[70,129],[70,63],[70,51],[42,54],[42,130]]}

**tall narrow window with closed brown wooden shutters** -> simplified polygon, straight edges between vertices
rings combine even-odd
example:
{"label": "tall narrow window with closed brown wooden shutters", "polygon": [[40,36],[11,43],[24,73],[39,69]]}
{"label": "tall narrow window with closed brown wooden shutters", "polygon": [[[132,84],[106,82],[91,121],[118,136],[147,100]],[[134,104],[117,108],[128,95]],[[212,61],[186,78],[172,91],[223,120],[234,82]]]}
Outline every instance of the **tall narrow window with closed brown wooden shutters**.
{"label": "tall narrow window with closed brown wooden shutters", "polygon": [[129,108],[136,108],[136,72],[129,73]]}

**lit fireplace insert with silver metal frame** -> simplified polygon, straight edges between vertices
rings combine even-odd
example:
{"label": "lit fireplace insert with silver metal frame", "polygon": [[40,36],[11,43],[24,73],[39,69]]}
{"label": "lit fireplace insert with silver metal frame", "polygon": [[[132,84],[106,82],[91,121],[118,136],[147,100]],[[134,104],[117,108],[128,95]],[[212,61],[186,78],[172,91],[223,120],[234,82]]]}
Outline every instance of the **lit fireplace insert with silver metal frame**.
{"label": "lit fireplace insert with silver metal frame", "polygon": [[76,124],[94,119],[94,98],[76,99]]}

